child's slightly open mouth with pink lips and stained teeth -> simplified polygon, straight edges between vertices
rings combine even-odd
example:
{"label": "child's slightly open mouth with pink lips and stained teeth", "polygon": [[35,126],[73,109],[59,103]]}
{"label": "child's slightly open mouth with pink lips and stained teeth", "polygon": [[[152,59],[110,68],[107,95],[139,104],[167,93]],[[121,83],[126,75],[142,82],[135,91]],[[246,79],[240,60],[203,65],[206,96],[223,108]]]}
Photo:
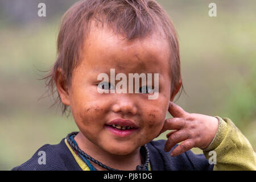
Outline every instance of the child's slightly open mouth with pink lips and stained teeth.
{"label": "child's slightly open mouth with pink lips and stained teeth", "polygon": [[134,122],[123,119],[114,119],[105,127],[117,137],[127,137],[139,129]]}

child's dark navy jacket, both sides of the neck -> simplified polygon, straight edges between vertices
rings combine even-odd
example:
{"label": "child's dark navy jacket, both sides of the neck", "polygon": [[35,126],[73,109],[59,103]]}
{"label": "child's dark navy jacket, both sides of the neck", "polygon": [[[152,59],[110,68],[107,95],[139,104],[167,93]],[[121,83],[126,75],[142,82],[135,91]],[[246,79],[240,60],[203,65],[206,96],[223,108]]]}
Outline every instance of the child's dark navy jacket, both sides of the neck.
{"label": "child's dark navy jacket, both sides of the neck", "polygon": [[[195,155],[192,151],[172,157],[170,152],[164,151],[166,140],[151,141],[147,144],[150,152],[150,166],[152,171],[170,170],[213,170],[203,154]],[[176,145],[177,146],[177,145]],[[176,147],[175,146],[175,147]],[[173,150],[173,149],[172,149]],[[46,164],[39,164],[39,151],[46,152]],[[14,167],[13,171],[81,171],[79,164],[66,146],[64,139],[59,144],[45,144],[27,162]]]}

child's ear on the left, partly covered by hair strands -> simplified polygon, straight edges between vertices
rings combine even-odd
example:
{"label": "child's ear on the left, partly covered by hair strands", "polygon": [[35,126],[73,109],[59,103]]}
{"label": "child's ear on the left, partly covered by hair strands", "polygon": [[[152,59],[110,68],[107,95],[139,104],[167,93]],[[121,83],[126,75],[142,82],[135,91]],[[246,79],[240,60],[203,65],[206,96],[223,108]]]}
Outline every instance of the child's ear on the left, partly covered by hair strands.
{"label": "child's ear on the left, partly covered by hair strands", "polygon": [[64,72],[61,68],[58,68],[55,73],[55,84],[57,92],[60,95],[61,102],[64,105],[70,105],[67,80],[65,79]]}

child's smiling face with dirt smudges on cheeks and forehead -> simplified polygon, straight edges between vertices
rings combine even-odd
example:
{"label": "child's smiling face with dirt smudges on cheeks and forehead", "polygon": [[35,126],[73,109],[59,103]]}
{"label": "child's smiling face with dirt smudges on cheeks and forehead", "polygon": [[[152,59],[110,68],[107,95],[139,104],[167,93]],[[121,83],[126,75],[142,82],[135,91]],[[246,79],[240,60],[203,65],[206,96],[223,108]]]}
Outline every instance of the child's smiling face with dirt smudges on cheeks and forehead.
{"label": "child's smiling face with dirt smudges on cheeks and forehead", "polygon": [[[170,49],[157,35],[129,43],[118,38],[109,30],[90,33],[83,60],[73,72],[68,104],[88,141],[110,154],[125,155],[150,142],[163,127],[171,90]],[[100,94],[97,76],[107,73],[110,78],[110,69],[115,69],[115,75],[125,73],[127,78],[129,73],[159,73],[158,98],[148,100],[144,93]],[[108,124],[117,118],[129,119],[138,129],[126,136],[116,135]]]}

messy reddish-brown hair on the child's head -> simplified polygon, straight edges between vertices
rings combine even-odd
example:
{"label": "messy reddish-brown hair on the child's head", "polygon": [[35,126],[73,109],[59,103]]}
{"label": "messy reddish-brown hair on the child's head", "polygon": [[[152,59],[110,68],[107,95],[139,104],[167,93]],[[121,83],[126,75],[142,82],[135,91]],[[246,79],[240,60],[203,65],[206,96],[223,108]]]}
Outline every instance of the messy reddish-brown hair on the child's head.
{"label": "messy reddish-brown hair on the child's head", "polygon": [[[75,3],[64,15],[57,38],[57,59],[46,81],[47,92],[56,93],[56,71],[61,68],[68,86],[71,85],[73,70],[81,63],[81,53],[90,23],[111,28],[116,35],[125,35],[127,41],[142,39],[155,31],[167,40],[171,56],[171,97],[183,90],[180,71],[180,53],[177,34],[166,11],[154,0],[83,0]],[[177,90],[178,89],[178,90]],[[70,114],[70,108],[61,102],[59,93],[54,105],[61,106],[62,114]],[[67,112],[67,109],[69,111]]]}

